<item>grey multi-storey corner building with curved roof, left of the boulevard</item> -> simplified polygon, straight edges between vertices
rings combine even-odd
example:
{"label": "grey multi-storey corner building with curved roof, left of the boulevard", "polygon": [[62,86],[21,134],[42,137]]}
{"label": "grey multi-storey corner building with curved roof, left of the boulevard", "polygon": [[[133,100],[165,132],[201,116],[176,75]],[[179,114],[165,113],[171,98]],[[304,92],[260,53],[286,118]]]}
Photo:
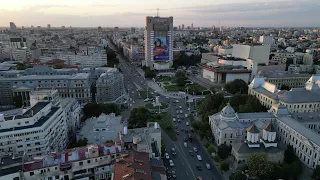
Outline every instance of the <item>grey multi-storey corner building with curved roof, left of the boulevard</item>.
{"label": "grey multi-storey corner building with curved roof, left of the boulevard", "polygon": [[96,101],[122,104],[127,100],[123,75],[116,68],[109,68],[96,81]]}

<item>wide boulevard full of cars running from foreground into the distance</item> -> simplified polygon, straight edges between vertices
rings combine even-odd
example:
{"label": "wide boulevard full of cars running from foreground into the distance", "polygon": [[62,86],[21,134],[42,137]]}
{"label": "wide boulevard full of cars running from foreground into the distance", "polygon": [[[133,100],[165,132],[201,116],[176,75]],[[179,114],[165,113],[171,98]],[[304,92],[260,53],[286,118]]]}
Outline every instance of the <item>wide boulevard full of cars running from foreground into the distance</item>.
{"label": "wide boulevard full of cars running from foreground into the distance", "polygon": [[[117,52],[116,48],[111,44],[110,47],[115,52]],[[137,90],[147,90],[147,83],[146,80],[141,77],[141,75],[137,72],[136,67],[129,62],[127,62],[122,55],[117,53],[120,64],[119,68],[122,70],[122,73],[124,75],[124,82],[126,90],[128,90],[130,101],[129,101],[129,109],[132,109],[137,106],[143,106],[145,102],[143,102],[143,99],[139,97],[139,93]],[[149,92],[152,92],[153,90],[151,88],[148,88]],[[153,93],[155,93],[153,91]],[[156,94],[156,93],[155,93]],[[162,138],[164,140],[164,143],[166,145],[167,153],[169,154],[169,159],[173,160],[174,166],[170,167],[169,162],[167,159],[164,159],[166,167],[168,167],[167,172],[175,171],[176,173],[176,179],[184,179],[184,180],[195,180],[197,177],[202,177],[203,180],[222,180],[222,176],[216,169],[216,167],[211,163],[210,157],[206,153],[206,150],[203,149],[202,145],[198,141],[198,139],[195,137],[196,135],[190,131],[191,125],[186,125],[186,122],[189,122],[189,118],[185,117],[185,114],[189,114],[188,107],[186,106],[185,99],[177,99],[174,98],[167,98],[166,96],[163,96],[161,94],[159,95],[160,102],[166,102],[170,104],[170,107],[168,109],[168,113],[171,114],[171,116],[176,118],[176,122],[174,122],[175,125],[177,125],[177,129],[180,134],[177,135],[178,141],[173,142],[167,134],[162,131]],[[181,108],[180,108],[181,106]],[[182,113],[180,113],[180,110]],[[179,118],[178,118],[179,116]],[[178,123],[178,119],[180,119],[180,123]],[[182,130],[183,129],[183,132]],[[192,136],[192,142],[187,140],[187,147],[184,146],[185,139],[188,139],[188,133],[185,132],[185,129],[188,130],[188,133]],[[193,147],[197,148],[197,152],[194,152]],[[172,156],[171,149],[174,148],[177,155]],[[190,152],[193,152],[193,156],[190,155]],[[197,155],[200,155],[202,157],[202,161],[199,161],[197,159]],[[207,169],[206,164],[210,165],[210,169]],[[198,170],[196,165],[200,166],[202,170]]]}

